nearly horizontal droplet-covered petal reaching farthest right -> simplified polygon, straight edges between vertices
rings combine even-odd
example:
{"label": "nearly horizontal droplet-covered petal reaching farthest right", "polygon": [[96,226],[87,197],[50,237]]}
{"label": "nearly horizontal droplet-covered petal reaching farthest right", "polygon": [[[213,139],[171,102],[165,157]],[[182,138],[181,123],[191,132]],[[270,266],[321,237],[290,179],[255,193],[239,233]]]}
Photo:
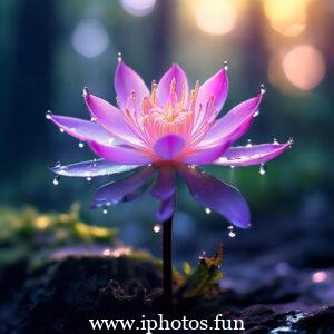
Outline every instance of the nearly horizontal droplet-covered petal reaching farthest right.
{"label": "nearly horizontal droplet-covered petal reaching farthest right", "polygon": [[253,146],[230,147],[226,153],[216,160],[215,165],[220,166],[252,166],[264,164],[283,154],[289,146],[291,141],[285,144],[262,144]]}

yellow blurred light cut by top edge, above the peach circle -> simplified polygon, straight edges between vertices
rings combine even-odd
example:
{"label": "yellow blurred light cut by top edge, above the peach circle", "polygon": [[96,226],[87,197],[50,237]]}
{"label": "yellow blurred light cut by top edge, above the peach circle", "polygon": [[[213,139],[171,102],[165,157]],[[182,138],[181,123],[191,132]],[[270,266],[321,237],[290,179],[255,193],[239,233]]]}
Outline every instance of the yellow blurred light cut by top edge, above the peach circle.
{"label": "yellow blurred light cut by top edge, above the peach circle", "polygon": [[284,36],[297,36],[305,28],[310,0],[264,0],[272,28]]}

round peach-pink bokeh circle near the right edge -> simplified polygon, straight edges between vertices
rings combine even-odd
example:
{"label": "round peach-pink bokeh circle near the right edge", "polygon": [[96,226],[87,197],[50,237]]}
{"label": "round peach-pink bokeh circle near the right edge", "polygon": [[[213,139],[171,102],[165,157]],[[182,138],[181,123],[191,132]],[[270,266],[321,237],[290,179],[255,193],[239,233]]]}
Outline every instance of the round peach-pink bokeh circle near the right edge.
{"label": "round peach-pink bokeh circle near the right edge", "polygon": [[295,47],[283,59],[286,78],[302,90],[316,87],[325,75],[325,62],[322,53],[312,46]]}

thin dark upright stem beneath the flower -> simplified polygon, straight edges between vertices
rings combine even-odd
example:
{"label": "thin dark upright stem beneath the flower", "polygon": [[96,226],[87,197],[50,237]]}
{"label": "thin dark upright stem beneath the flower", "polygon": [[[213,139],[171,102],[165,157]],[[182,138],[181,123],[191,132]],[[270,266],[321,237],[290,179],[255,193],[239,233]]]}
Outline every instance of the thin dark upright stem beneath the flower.
{"label": "thin dark upright stem beneath the flower", "polygon": [[164,299],[166,304],[173,302],[173,276],[171,276],[171,227],[173,216],[163,223],[163,279]]}

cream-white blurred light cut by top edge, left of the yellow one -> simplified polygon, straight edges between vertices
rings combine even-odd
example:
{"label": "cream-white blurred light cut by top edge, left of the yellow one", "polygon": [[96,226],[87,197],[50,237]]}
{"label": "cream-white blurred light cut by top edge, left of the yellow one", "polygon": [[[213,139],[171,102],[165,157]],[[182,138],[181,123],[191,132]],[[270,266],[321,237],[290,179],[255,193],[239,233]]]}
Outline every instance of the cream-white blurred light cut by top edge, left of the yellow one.
{"label": "cream-white blurred light cut by top edge, left of the yellow one", "polygon": [[235,1],[196,0],[191,2],[199,29],[212,35],[229,32],[237,18]]}

